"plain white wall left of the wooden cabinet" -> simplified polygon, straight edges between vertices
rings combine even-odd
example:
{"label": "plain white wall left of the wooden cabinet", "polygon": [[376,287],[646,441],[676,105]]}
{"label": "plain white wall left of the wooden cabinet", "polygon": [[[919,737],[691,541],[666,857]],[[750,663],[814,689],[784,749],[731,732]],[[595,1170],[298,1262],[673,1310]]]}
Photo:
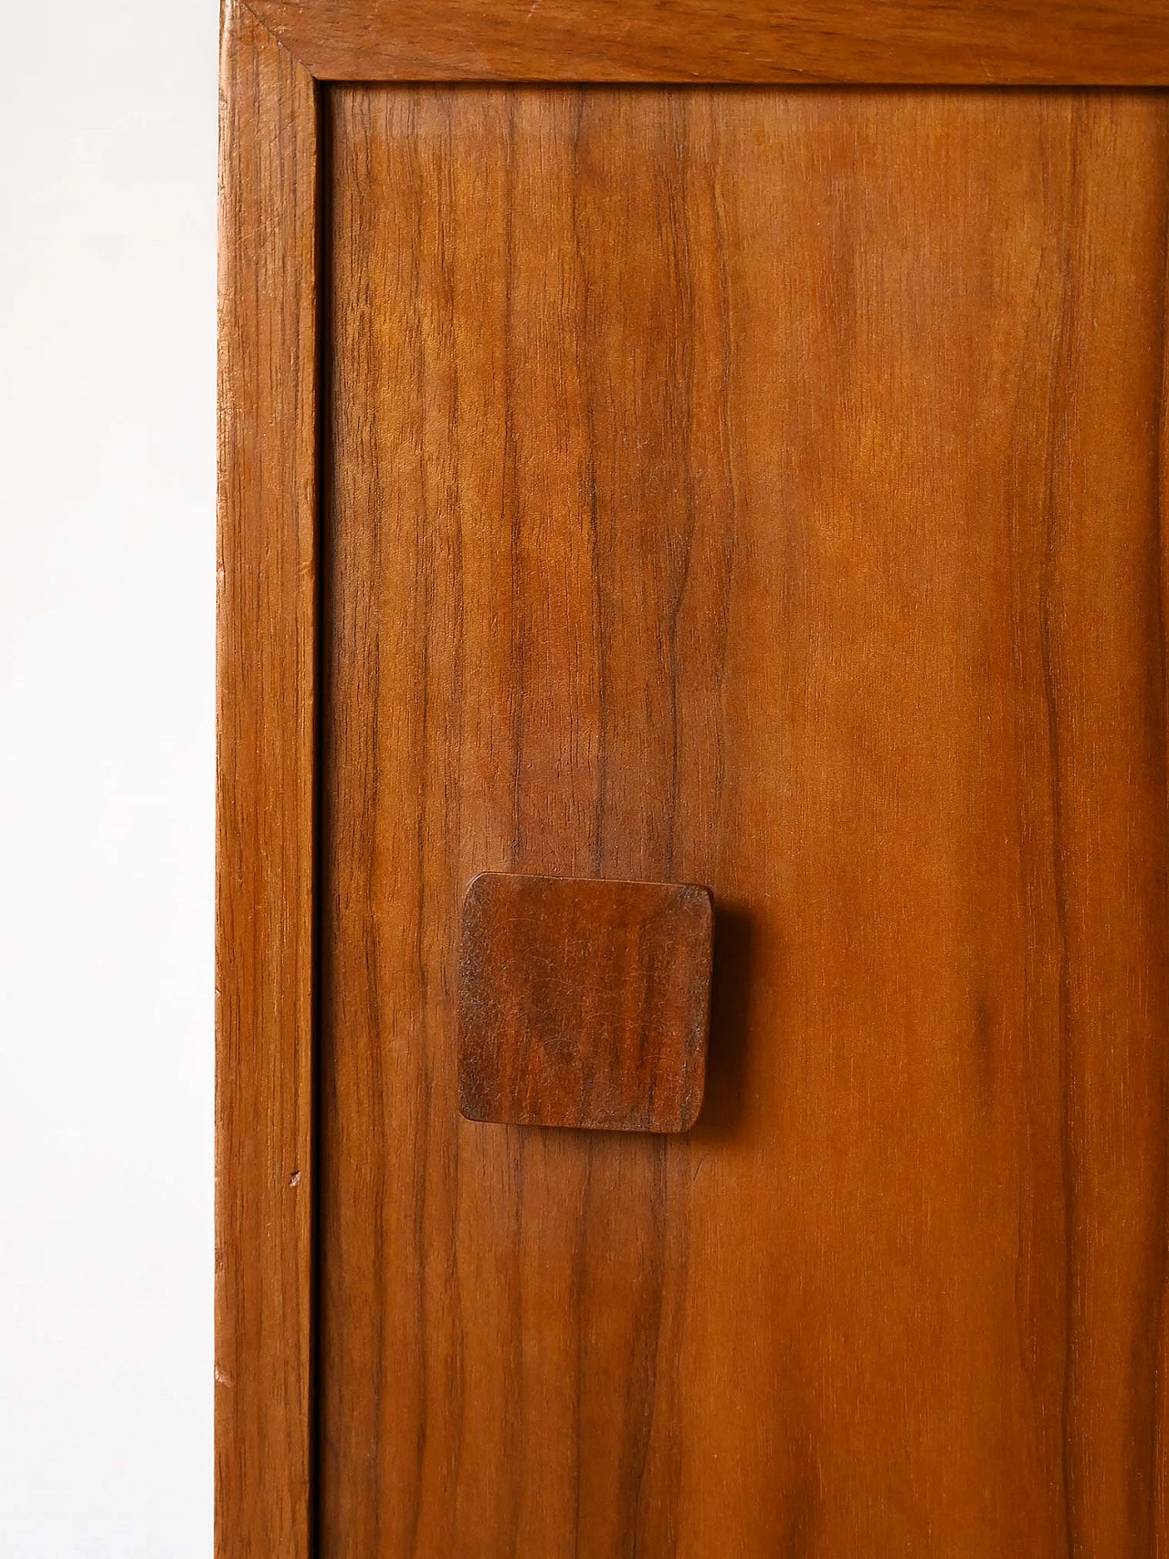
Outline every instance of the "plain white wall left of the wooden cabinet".
{"label": "plain white wall left of the wooden cabinet", "polygon": [[0,0],[0,1556],[210,1554],[217,0]]}

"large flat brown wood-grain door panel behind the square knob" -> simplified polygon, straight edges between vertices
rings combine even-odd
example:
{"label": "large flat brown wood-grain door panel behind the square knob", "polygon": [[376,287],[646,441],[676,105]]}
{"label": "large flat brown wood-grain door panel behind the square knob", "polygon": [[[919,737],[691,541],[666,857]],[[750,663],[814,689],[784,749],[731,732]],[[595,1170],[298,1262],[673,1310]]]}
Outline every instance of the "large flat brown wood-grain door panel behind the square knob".
{"label": "large flat brown wood-grain door panel behind the square knob", "polygon": [[[1160,1553],[1169,111],[329,97],[327,1559]],[[681,1138],[480,870],[715,893]]]}

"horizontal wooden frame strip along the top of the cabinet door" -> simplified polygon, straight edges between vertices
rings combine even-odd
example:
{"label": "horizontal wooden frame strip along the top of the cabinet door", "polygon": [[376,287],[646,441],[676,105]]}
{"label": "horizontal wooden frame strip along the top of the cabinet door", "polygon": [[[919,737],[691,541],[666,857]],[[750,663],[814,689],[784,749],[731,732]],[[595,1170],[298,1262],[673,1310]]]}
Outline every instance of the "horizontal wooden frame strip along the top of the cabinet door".
{"label": "horizontal wooden frame strip along the top of the cabinet door", "polygon": [[1163,86],[1163,0],[251,0],[327,81]]}

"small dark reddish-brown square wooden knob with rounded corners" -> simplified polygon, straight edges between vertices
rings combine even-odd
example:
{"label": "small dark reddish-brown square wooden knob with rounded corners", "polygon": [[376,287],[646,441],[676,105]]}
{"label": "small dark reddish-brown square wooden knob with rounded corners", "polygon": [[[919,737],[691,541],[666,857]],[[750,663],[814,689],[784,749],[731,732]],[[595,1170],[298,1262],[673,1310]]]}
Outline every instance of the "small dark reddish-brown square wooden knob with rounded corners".
{"label": "small dark reddish-brown square wooden knob with rounded corners", "polygon": [[706,1080],[703,887],[480,873],[463,900],[458,1107],[469,1121],[687,1132]]}

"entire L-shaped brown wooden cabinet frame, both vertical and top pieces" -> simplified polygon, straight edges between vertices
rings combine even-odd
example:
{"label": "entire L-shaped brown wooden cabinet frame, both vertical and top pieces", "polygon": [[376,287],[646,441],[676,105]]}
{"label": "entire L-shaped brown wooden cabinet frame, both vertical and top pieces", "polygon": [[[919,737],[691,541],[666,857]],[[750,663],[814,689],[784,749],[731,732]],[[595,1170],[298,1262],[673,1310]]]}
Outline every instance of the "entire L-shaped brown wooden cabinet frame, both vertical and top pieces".
{"label": "entire L-shaped brown wooden cabinet frame, both vertical and top pieces", "polygon": [[[547,8],[547,11],[544,9]],[[934,12],[931,20],[929,12]],[[1166,86],[1169,9],[224,0],[215,1554],[312,1559],[323,94],[329,81]],[[633,27],[619,36],[620,16]],[[669,17],[664,20],[664,17]],[[946,23],[949,17],[949,23]],[[528,25],[528,19],[533,25]],[[1005,19],[1005,22],[1004,22]],[[1005,28],[1005,30],[1004,30]],[[1144,33],[1141,33],[1144,30]],[[1052,39],[1052,33],[1058,37]],[[1130,36],[1132,34],[1132,36]],[[990,55],[980,55],[984,37]],[[1138,48],[1139,39],[1139,48]]]}

